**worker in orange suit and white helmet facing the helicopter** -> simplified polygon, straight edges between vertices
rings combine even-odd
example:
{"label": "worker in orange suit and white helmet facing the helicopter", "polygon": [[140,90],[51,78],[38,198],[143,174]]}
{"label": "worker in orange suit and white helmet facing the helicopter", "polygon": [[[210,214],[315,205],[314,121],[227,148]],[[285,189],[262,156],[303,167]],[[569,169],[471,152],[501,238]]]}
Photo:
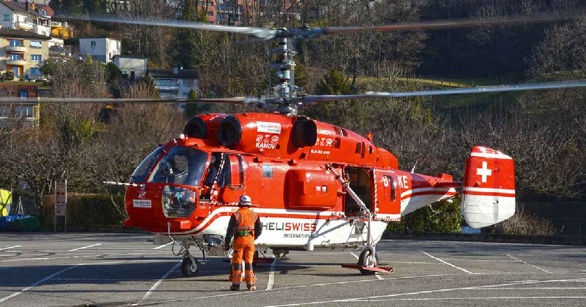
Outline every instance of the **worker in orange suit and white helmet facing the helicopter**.
{"label": "worker in orange suit and white helmet facing the helicopter", "polygon": [[246,280],[247,288],[249,291],[256,290],[256,275],[253,272],[254,240],[260,236],[263,224],[258,219],[258,215],[250,210],[252,205],[250,196],[240,196],[240,202],[238,203],[240,209],[234,212],[228,223],[224,250],[230,249],[230,241],[234,236],[234,253],[232,254],[232,270],[230,274],[230,280],[232,281],[231,291],[240,290],[243,258],[244,280]]}

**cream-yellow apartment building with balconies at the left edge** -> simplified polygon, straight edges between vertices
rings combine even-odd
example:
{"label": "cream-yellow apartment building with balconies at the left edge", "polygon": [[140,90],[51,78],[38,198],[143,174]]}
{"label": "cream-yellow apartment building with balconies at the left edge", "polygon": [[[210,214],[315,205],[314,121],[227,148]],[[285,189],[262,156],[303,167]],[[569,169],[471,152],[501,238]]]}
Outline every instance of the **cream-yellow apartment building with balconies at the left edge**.
{"label": "cream-yellow apartment building with balconies at the left edge", "polygon": [[49,58],[49,36],[15,29],[0,29],[0,71],[12,71],[15,79],[39,77]]}

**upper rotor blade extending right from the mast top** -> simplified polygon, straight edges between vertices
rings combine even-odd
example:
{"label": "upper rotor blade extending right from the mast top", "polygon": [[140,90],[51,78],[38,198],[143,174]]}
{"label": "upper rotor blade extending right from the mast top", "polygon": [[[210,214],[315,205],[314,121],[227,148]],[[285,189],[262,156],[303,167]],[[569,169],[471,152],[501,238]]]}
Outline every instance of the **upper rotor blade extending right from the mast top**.
{"label": "upper rotor blade extending right from the mast top", "polygon": [[366,27],[325,27],[325,35],[353,33],[353,32],[380,32],[380,31],[419,31],[419,30],[438,30],[438,29],[456,29],[463,27],[488,27],[488,26],[506,26],[523,23],[544,23],[558,22],[577,18],[577,13],[554,14],[554,15],[537,15],[537,16],[507,16],[502,18],[490,19],[454,19],[454,20],[434,20],[430,22],[418,23],[399,23],[396,25],[386,26],[366,26]]}

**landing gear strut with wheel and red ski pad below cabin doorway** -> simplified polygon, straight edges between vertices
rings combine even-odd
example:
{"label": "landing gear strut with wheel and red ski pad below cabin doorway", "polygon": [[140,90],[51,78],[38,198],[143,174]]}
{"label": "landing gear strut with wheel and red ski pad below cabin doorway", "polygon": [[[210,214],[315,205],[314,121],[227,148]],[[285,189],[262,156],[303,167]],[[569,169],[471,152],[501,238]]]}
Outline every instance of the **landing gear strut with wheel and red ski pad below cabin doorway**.
{"label": "landing gear strut with wheel and red ski pad below cabin doorway", "polygon": [[394,271],[393,267],[381,267],[379,264],[383,264],[380,261],[379,256],[376,253],[376,244],[372,240],[372,233],[370,228],[370,223],[372,222],[372,212],[370,209],[364,205],[364,202],[356,195],[356,193],[350,188],[349,182],[343,180],[342,176],[334,170],[331,164],[327,164],[326,168],[329,171],[336,175],[336,180],[342,184],[342,187],[350,194],[350,196],[356,201],[356,203],[362,208],[363,212],[366,212],[366,215],[359,216],[359,219],[366,219],[367,222],[367,229],[366,229],[366,244],[364,244],[364,248],[358,257],[357,264],[342,264],[343,268],[355,268],[360,270],[363,275],[374,275],[376,272],[383,272],[383,273],[392,273]]}

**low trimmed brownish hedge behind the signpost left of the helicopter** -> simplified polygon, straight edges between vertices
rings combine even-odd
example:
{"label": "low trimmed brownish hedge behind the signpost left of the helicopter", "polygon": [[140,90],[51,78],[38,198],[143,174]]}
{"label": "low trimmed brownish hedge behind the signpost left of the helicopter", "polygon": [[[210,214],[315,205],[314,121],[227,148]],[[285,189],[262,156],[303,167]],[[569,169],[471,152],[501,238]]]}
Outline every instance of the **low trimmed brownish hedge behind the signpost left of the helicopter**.
{"label": "low trimmed brownish hedge behind the signpost left of the helicopter", "polygon": [[[43,196],[42,226],[53,229],[54,196]],[[67,227],[74,228],[89,225],[122,225],[128,216],[124,209],[124,196],[109,194],[67,195]]]}

